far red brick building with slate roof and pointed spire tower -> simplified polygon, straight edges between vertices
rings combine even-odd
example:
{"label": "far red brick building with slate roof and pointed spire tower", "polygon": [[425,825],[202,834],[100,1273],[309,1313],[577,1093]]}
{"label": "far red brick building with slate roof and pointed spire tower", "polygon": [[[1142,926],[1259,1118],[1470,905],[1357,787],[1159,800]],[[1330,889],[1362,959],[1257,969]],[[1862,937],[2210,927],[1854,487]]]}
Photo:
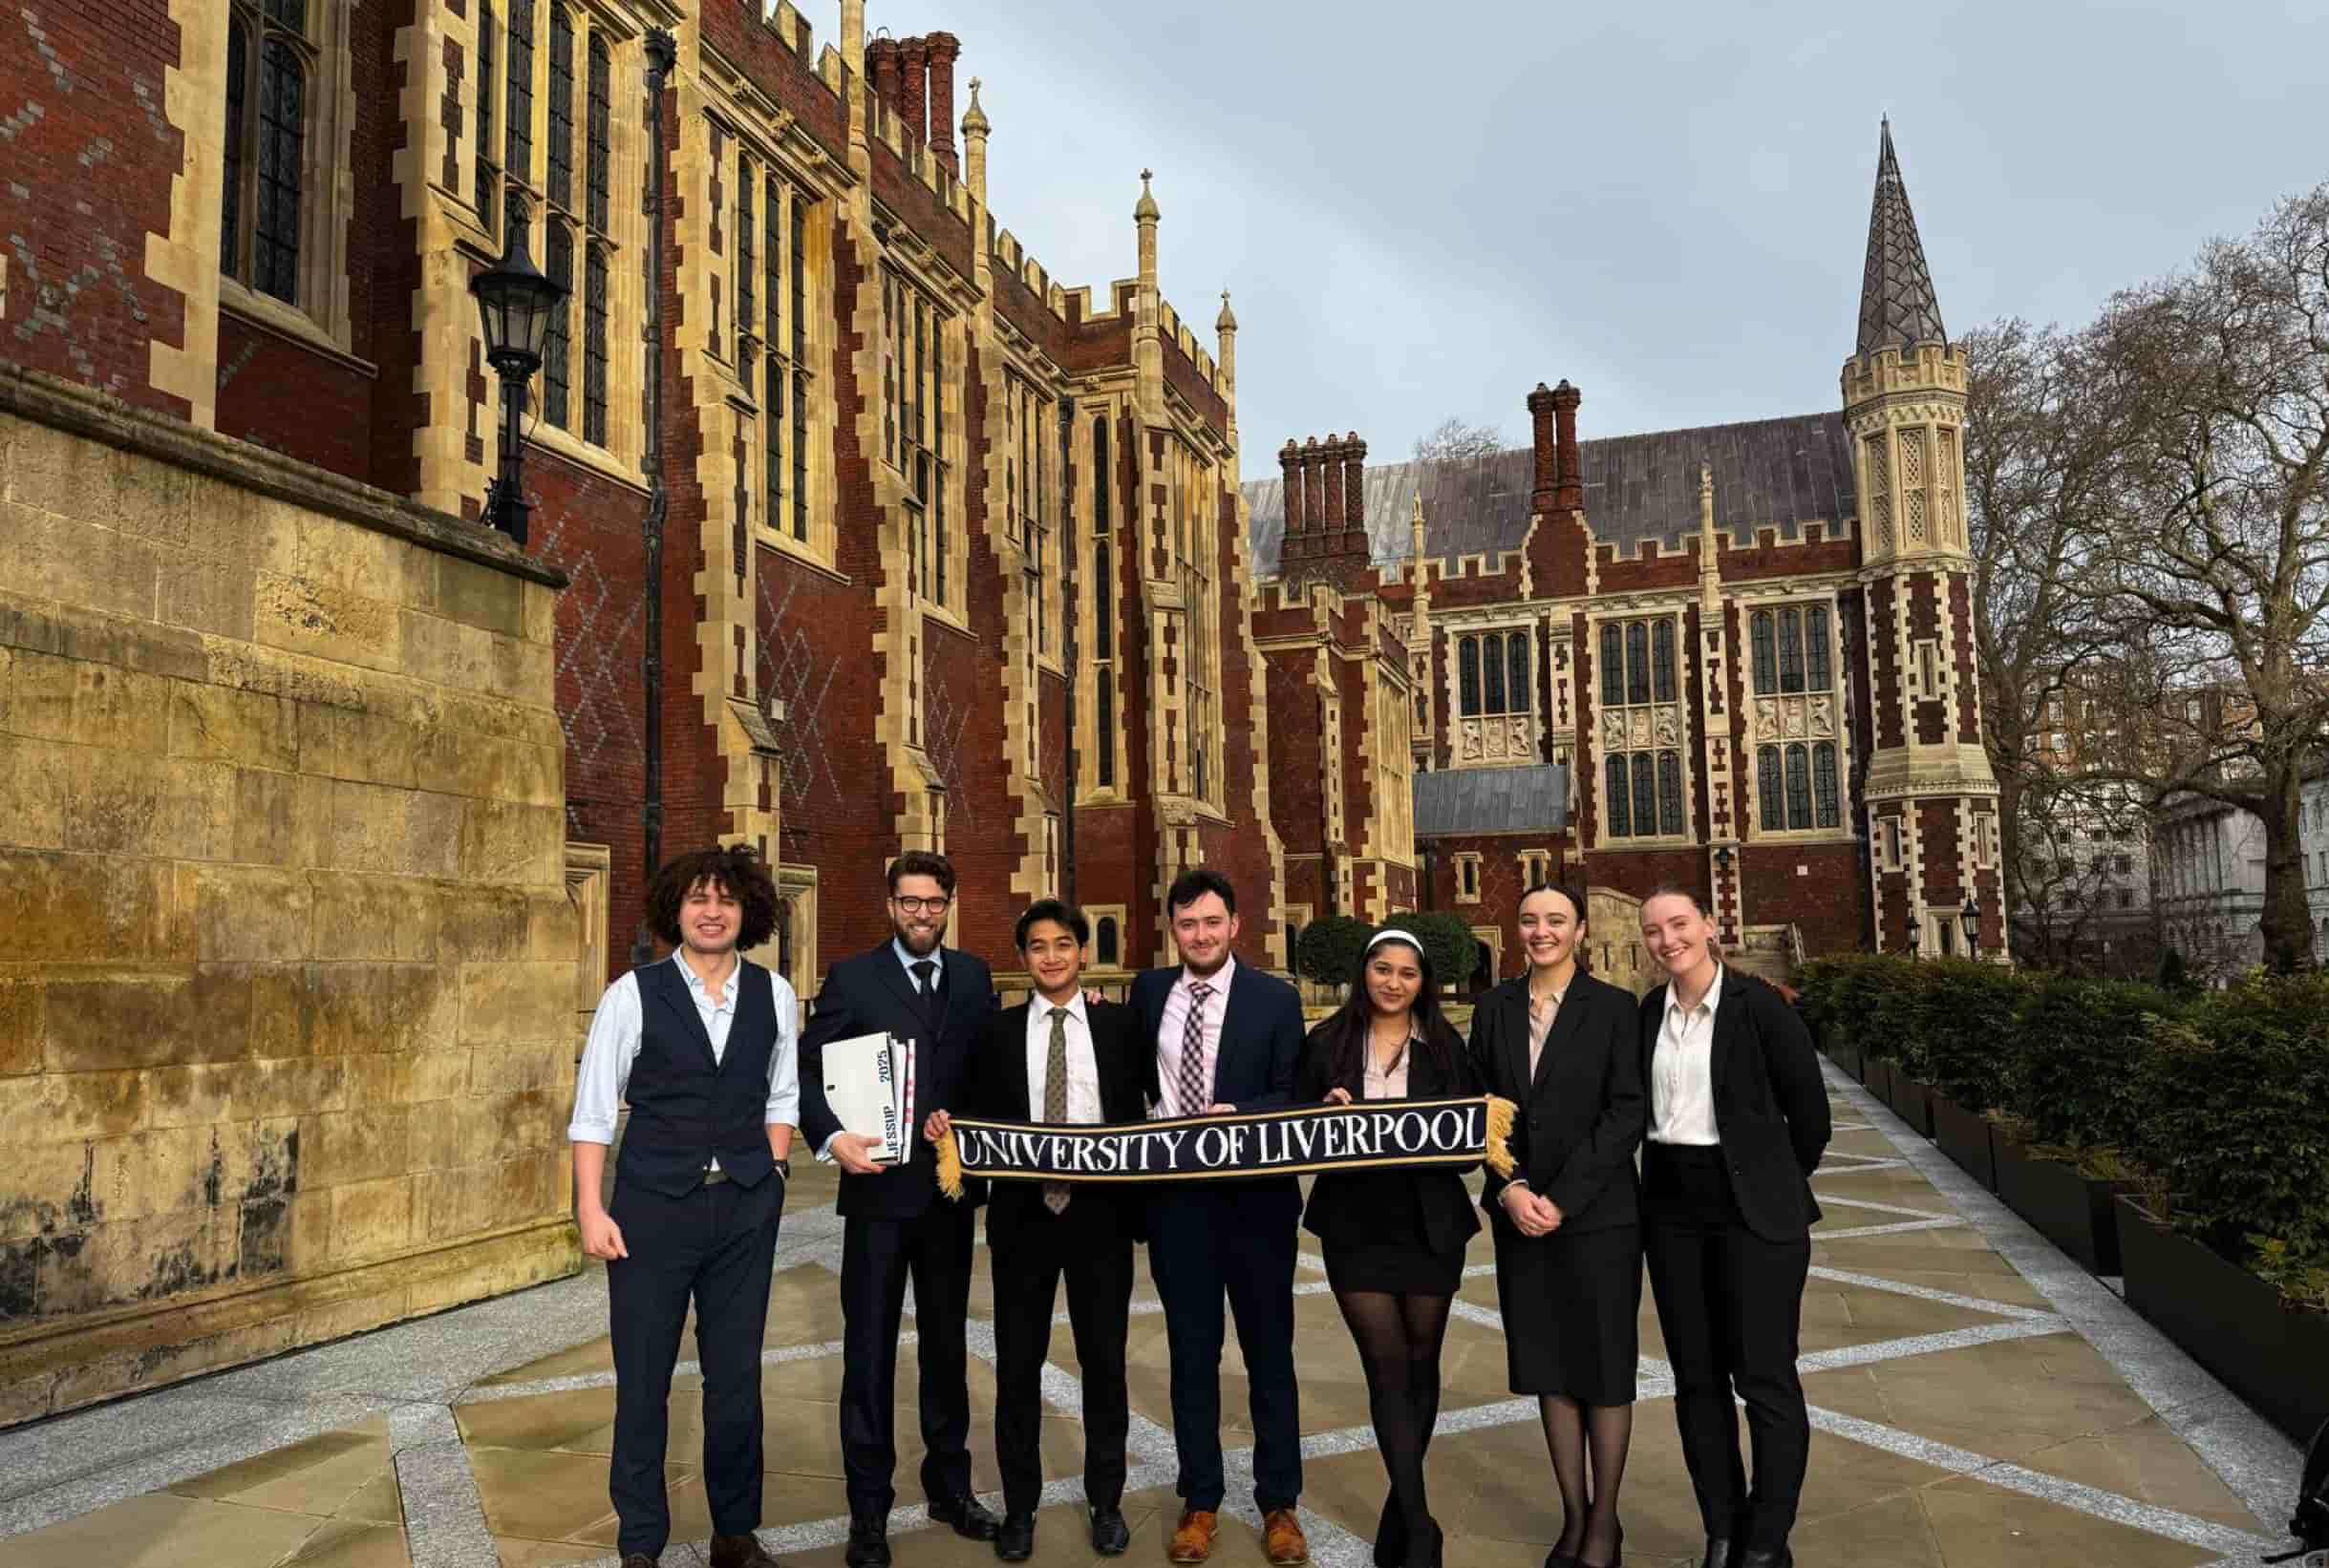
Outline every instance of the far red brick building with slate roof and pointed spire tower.
{"label": "far red brick building with slate roof and pointed spire tower", "polygon": [[1456,910],[1512,975],[1519,893],[1560,875],[1621,977],[1661,882],[1758,968],[1963,949],[1968,900],[1998,954],[1966,361],[1891,130],[1840,414],[1579,440],[1581,402],[1539,384],[1523,451],[1369,470],[1325,437],[1244,486],[1293,917]]}

